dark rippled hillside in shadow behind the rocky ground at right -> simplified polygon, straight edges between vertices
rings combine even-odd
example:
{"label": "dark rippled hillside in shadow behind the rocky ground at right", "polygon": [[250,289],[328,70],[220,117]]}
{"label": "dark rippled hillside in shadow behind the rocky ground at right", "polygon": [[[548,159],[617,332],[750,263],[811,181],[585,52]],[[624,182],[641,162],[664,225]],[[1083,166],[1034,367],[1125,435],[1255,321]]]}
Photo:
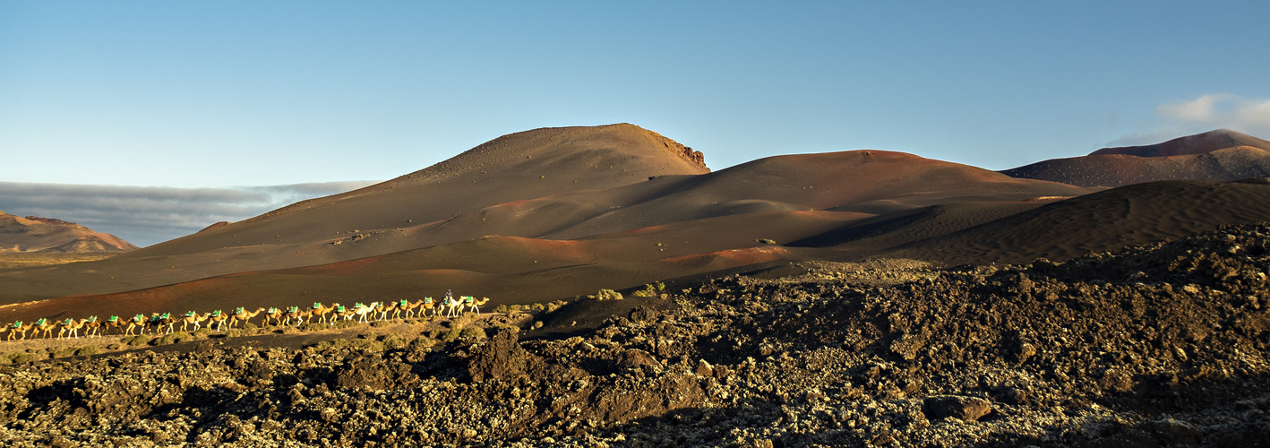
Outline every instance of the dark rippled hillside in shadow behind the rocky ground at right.
{"label": "dark rippled hillside in shadow behind the rocky ground at right", "polygon": [[1265,180],[1154,181],[1055,202],[872,256],[1025,264],[1257,222],[1270,222]]}

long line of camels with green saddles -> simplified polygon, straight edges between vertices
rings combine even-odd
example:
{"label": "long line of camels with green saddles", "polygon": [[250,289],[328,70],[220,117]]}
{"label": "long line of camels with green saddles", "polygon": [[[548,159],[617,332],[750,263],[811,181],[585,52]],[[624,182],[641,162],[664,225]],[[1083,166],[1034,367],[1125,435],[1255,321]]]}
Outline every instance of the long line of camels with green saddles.
{"label": "long line of camels with green saddles", "polygon": [[335,325],[335,322],[352,321],[354,319],[358,322],[414,319],[415,316],[420,319],[439,319],[457,317],[465,312],[480,315],[480,307],[486,302],[489,302],[489,297],[483,297],[479,301],[472,296],[455,298],[453,294],[446,292],[446,297],[441,301],[433,301],[432,297],[424,297],[414,302],[403,298],[391,302],[371,302],[370,305],[356,303],[351,307],[339,303],[323,305],[315,302],[310,307],[262,307],[254,311],[237,307],[232,312],[216,310],[198,313],[189,311],[182,316],[173,316],[169,312],[154,312],[150,316],[138,313],[132,317],[110,316],[109,319],[98,319],[98,316],[91,316],[62,321],[39,319],[34,322],[15,321],[10,325],[4,325],[0,327],[0,334],[5,334],[5,340],[23,340],[28,335],[30,339],[48,339],[53,338],[53,330],[57,330],[57,339],[79,339],[80,330],[84,330],[85,338],[100,338],[112,333],[118,336],[163,335],[174,333],[178,324],[180,325],[180,331],[198,331],[203,326],[215,331],[224,331],[226,325],[230,329],[240,325],[245,327],[246,324],[260,315],[263,315],[260,319],[262,326],[300,326],[310,322]]}

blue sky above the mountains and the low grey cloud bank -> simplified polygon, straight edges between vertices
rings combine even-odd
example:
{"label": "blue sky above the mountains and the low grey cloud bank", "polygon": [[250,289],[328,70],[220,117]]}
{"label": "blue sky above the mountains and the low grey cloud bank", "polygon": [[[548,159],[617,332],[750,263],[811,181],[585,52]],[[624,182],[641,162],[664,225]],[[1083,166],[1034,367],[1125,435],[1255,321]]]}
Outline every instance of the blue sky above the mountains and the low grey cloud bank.
{"label": "blue sky above the mountains and the low grey cloud bank", "polygon": [[617,122],[712,169],[855,148],[1008,169],[1219,127],[1270,138],[1267,19],[1262,0],[0,0],[0,181],[384,180]]}

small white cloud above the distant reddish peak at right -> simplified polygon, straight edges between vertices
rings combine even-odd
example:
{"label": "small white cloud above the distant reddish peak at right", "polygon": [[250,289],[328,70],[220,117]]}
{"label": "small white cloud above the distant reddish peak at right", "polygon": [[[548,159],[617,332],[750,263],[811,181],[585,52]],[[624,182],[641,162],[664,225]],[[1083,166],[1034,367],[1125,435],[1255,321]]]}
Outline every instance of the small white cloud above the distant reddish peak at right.
{"label": "small white cloud above the distant reddish peak at right", "polygon": [[1161,104],[1156,114],[1165,119],[1157,128],[1121,136],[1107,146],[1152,145],[1222,128],[1270,138],[1270,99],[1209,94]]}

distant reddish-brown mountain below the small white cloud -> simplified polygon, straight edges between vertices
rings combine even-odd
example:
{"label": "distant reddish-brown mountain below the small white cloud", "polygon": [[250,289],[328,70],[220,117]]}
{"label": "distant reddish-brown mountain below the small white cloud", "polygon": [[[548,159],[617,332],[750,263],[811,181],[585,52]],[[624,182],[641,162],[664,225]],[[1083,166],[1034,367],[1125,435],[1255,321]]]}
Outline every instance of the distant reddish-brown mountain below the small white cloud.
{"label": "distant reddish-brown mountain below the small white cloud", "polygon": [[1217,129],[1158,145],[1106,147],[1087,156],[1052,159],[1001,173],[1081,187],[1265,178],[1270,176],[1270,141]]}

